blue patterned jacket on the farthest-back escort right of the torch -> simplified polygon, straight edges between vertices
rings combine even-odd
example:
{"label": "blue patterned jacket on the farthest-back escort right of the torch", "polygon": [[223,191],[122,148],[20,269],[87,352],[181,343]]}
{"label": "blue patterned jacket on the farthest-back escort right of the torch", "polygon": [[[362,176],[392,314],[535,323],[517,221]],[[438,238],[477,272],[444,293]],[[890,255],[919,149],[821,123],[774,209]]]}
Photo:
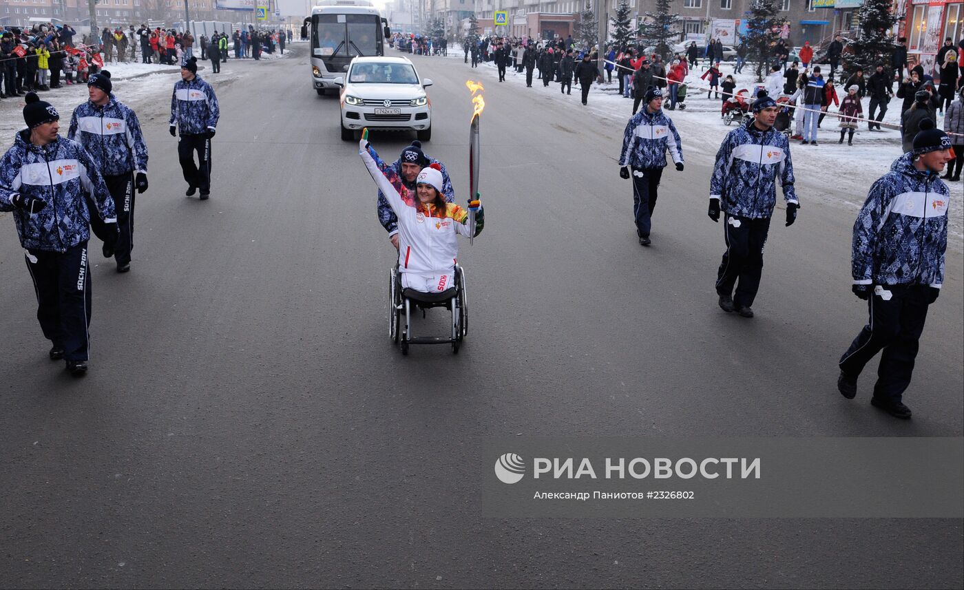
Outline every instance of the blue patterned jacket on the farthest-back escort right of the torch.
{"label": "blue patterned jacket on the farthest-back escort right of the torch", "polygon": [[683,143],[673,121],[662,110],[650,115],[644,107],[626,125],[619,165],[649,170],[663,168],[667,149],[674,162],[683,162]]}

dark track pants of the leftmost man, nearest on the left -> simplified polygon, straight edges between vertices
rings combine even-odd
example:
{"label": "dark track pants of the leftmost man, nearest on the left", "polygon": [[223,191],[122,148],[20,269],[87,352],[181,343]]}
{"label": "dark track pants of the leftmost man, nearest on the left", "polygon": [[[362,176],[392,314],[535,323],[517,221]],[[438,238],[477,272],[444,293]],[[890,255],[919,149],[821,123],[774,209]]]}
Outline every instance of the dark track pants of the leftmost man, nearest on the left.
{"label": "dark track pants of the leftmost man, nearest on the left", "polygon": [[24,255],[37,293],[43,336],[64,347],[67,361],[87,361],[91,325],[91,265],[87,242],[66,253],[30,250]]}

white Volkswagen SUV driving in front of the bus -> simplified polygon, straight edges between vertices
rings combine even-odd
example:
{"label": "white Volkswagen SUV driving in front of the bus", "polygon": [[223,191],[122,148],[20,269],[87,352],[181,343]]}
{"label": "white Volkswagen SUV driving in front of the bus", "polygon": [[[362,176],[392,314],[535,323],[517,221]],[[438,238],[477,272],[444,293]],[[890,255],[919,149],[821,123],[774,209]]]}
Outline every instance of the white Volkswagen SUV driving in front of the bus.
{"label": "white Volkswagen SUV driving in front of the bus", "polygon": [[412,129],[419,141],[432,138],[432,103],[425,94],[432,81],[421,80],[408,58],[359,56],[335,84],[341,87],[341,139],[354,140],[363,127]]}

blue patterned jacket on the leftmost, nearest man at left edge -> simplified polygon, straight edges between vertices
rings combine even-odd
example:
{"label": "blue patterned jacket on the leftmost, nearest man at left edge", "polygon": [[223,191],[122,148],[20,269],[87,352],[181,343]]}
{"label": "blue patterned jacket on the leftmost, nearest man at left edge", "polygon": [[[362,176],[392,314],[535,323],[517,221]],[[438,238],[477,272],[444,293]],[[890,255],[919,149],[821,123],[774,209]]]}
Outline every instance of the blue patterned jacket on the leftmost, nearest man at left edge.
{"label": "blue patterned jacket on the leftmost, nearest man at left edge", "polygon": [[[15,209],[11,198],[17,193],[42,199],[47,206],[33,215]],[[91,213],[85,194],[93,198],[100,219],[117,222],[114,200],[94,160],[74,141],[58,137],[35,146],[30,130],[24,129],[0,160],[0,211],[13,211],[20,245],[26,249],[67,252],[87,241]]]}

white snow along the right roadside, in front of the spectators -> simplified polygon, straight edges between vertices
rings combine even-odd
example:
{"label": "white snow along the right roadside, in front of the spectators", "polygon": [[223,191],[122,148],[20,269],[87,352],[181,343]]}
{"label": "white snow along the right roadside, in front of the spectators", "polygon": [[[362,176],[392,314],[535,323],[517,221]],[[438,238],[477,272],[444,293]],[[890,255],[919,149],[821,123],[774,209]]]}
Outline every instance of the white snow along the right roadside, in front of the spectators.
{"label": "white snow along the right roadside, in front of the spectators", "polygon": [[[394,49],[391,51],[399,53]],[[461,48],[456,51],[457,55],[449,48],[447,59],[462,60]],[[734,67],[732,64],[723,64],[721,69],[723,76],[726,77],[727,74],[733,73]],[[475,71],[480,72],[479,75],[497,80],[497,71],[492,63],[480,64]],[[693,160],[696,156],[699,161],[711,164],[723,138],[736,123],[726,126],[720,119],[721,100],[708,99],[706,91],[701,93],[697,90],[697,87],[705,85],[705,82],[700,80],[703,71],[702,68],[694,68],[686,77],[685,81],[689,87],[685,98],[686,109],[666,111],[666,114],[673,120],[683,138],[683,156],[687,160]],[[749,65],[734,78],[737,91],[742,88],[752,91],[756,86],[755,77]],[[569,109],[560,109],[560,116],[563,117],[578,117],[577,111],[586,108],[622,130],[632,114],[632,99],[618,94],[619,84],[616,82],[615,75],[612,83],[593,85],[589,93],[588,107],[582,107],[579,103],[578,82],[573,84],[572,95],[563,95],[559,93],[558,84],[553,82],[549,84],[549,88],[544,88],[542,81],[537,82],[533,76],[532,88],[527,89],[524,72],[517,73],[510,67],[506,74],[506,83],[519,86],[522,89],[520,92],[545,94],[555,100],[569,103]],[[843,98],[841,90],[838,90],[838,94]],[[664,104],[668,105],[669,100],[667,99]],[[900,105],[901,100],[893,98],[883,122],[898,124]],[[866,117],[870,111],[870,98],[864,98],[863,107]],[[830,110],[832,113],[836,112],[837,107],[831,106]],[[940,116],[938,119],[938,125],[943,126],[944,120]],[[842,216],[852,219],[866,200],[873,181],[886,173],[901,154],[900,133],[897,129],[884,127],[883,131],[868,131],[866,123],[862,123],[854,134],[853,146],[847,146],[846,142],[840,145],[837,143],[839,139],[840,126],[837,118],[827,116],[817,132],[818,146],[801,146],[798,141],[790,141],[797,196],[800,198],[801,211],[804,214],[807,203],[816,201],[838,207],[843,210]],[[614,146],[613,166],[617,164],[618,152],[619,146]],[[951,200],[949,210],[949,242],[954,250],[960,252],[964,250],[962,185],[960,182],[949,182],[948,186],[951,187],[951,196],[956,197]],[[709,178],[705,179],[701,188],[709,199]]]}

